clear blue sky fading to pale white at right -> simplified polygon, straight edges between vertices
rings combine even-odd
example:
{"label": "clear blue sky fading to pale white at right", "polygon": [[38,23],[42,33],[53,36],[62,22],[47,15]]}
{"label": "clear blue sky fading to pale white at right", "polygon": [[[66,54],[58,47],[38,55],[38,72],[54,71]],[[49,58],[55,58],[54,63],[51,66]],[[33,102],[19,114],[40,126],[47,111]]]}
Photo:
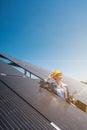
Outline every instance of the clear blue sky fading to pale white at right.
{"label": "clear blue sky fading to pale white at right", "polygon": [[0,0],[0,52],[87,81],[87,0]]}

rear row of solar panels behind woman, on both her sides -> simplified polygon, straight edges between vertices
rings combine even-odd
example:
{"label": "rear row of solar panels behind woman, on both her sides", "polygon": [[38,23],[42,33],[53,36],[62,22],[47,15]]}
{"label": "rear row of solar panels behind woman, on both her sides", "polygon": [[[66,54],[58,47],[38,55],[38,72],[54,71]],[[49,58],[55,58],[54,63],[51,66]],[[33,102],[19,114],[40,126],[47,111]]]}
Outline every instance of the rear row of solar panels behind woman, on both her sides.
{"label": "rear row of solar panels behind woman, on both her sides", "polygon": [[[45,79],[51,73],[51,71],[49,70],[43,69],[31,63],[21,61],[19,59],[13,58],[5,54],[0,54],[0,57],[10,60],[13,64],[20,66],[28,72],[31,72],[32,74],[34,74],[42,80]],[[75,94],[75,98],[77,100],[80,100],[82,103],[87,105],[87,85],[82,84],[80,81],[77,81],[65,75],[63,76],[63,82],[68,84],[70,92],[77,92]]]}

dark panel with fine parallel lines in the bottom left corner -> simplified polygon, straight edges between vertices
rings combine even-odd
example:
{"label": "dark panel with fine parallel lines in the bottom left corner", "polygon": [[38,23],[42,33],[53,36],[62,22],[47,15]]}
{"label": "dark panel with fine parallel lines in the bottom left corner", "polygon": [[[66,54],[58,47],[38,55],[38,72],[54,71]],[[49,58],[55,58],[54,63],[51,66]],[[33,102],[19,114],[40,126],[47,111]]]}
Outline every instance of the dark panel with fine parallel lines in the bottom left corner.
{"label": "dark panel with fine parallel lines in the bottom left corner", "polygon": [[0,130],[13,129],[53,130],[53,127],[49,120],[0,82]]}

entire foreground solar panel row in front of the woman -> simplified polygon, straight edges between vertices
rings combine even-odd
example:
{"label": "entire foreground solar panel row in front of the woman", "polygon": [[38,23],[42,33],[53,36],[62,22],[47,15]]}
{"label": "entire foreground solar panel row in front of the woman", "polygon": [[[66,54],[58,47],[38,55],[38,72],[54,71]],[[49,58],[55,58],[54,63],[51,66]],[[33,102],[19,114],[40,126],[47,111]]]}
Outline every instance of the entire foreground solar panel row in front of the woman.
{"label": "entire foreground solar panel row in front of the woman", "polygon": [[87,115],[0,61],[0,129],[86,130]]}

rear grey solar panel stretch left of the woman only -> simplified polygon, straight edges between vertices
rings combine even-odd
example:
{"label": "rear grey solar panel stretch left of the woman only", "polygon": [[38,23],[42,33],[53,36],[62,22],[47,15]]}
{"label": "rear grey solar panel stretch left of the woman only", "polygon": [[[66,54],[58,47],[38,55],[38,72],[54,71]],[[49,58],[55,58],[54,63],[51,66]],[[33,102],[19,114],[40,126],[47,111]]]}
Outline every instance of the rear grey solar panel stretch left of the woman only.
{"label": "rear grey solar panel stretch left of the woman only", "polygon": [[0,54],[0,56],[3,57],[3,58],[7,58],[8,60],[12,61],[16,65],[24,68],[25,70],[31,72],[34,75],[36,75],[40,79],[46,78],[48,76],[48,74],[51,73],[51,71],[49,71],[49,70],[45,70],[45,69],[38,67],[36,65],[33,65],[31,63],[23,62],[23,61],[18,60],[16,58],[12,58],[11,56],[7,56],[7,55],[4,55],[4,54]]}

